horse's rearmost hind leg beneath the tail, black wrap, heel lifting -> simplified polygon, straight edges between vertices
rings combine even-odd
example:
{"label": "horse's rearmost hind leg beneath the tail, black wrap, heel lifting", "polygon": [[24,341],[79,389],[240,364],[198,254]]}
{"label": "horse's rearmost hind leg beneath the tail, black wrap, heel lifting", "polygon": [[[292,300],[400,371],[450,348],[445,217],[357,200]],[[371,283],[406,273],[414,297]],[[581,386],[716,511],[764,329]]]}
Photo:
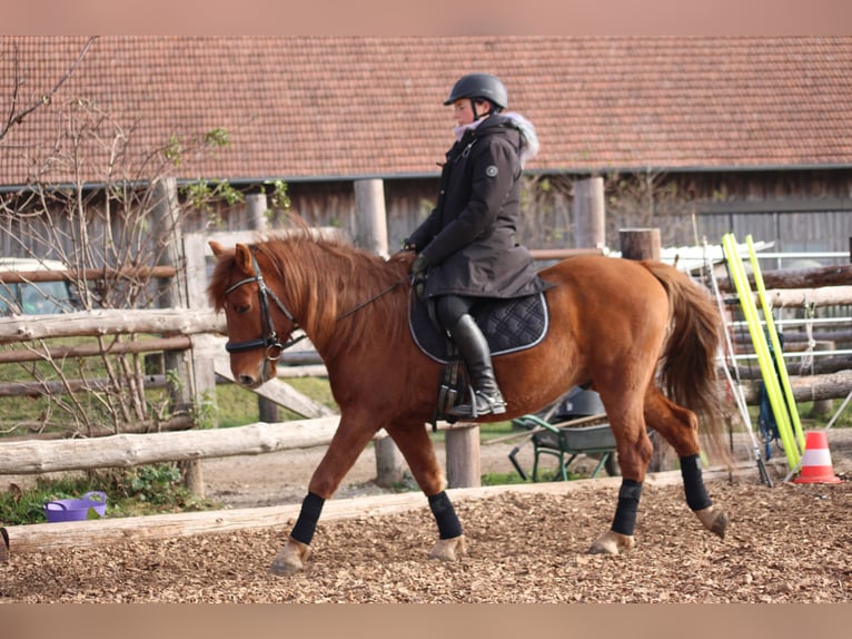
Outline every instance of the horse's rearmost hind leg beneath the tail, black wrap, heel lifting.
{"label": "horse's rearmost hind leg beneath the tail, black wrap, heel lifting", "polygon": [[713,505],[704,485],[695,413],[663,396],[656,387],[651,387],[645,397],[645,422],[677,453],[686,504],[707,530],[724,538],[729,518],[721,508]]}

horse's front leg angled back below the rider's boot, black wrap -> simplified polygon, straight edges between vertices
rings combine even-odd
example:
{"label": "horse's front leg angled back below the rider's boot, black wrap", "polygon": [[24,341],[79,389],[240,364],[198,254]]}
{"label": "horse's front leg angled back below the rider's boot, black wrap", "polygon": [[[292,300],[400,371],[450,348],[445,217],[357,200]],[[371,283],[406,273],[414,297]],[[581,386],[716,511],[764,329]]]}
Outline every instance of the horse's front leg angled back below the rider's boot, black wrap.
{"label": "horse's front leg angled back below the rider's boot, black wrap", "polygon": [[455,561],[465,551],[465,535],[462,522],[445,491],[444,473],[435,458],[435,448],[426,429],[423,424],[412,424],[387,430],[408,463],[417,485],[428,499],[432,514],[438,525],[438,541],[429,552],[429,558]]}

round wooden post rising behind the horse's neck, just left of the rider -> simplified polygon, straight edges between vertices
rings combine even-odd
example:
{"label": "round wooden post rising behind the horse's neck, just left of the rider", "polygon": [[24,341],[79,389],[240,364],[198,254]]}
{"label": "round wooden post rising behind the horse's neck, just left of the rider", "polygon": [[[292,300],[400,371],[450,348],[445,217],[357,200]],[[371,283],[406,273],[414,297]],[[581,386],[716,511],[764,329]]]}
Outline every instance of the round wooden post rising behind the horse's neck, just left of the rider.
{"label": "round wooden post rising behind the horse's neck, just left of the rider", "polygon": [[[387,214],[385,188],[380,179],[355,181],[355,237],[356,246],[387,256]],[[405,460],[390,438],[376,441],[376,484],[390,486],[403,481]]]}

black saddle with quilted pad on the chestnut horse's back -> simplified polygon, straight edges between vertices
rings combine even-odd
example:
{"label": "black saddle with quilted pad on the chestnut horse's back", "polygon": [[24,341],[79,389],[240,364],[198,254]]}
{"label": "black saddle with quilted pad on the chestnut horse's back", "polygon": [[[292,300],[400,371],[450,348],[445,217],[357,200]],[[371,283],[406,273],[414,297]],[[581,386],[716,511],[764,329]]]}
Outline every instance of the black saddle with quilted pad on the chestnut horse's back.
{"label": "black saddle with quilted pad on the chestnut horse's back", "polygon": [[[408,327],[414,343],[425,355],[444,365],[432,422],[435,429],[438,420],[457,421],[447,411],[462,403],[473,389],[455,344],[438,326],[429,306],[428,301],[418,298],[412,291]],[[544,293],[512,299],[484,299],[472,315],[488,342],[493,358],[532,348],[544,340],[549,326]]]}

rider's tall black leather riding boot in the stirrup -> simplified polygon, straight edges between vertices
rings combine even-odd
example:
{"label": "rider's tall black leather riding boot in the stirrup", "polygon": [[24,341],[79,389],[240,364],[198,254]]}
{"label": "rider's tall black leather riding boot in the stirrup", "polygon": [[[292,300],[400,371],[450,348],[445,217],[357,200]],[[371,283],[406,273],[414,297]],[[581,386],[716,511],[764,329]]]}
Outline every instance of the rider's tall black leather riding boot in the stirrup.
{"label": "rider's tall black leather riding boot in the stirrup", "polygon": [[472,419],[477,415],[501,414],[506,412],[506,402],[497,387],[492,366],[488,341],[470,315],[462,315],[449,331],[453,343],[467,364],[467,372],[473,377],[473,404],[460,404],[447,411],[450,415]]}

